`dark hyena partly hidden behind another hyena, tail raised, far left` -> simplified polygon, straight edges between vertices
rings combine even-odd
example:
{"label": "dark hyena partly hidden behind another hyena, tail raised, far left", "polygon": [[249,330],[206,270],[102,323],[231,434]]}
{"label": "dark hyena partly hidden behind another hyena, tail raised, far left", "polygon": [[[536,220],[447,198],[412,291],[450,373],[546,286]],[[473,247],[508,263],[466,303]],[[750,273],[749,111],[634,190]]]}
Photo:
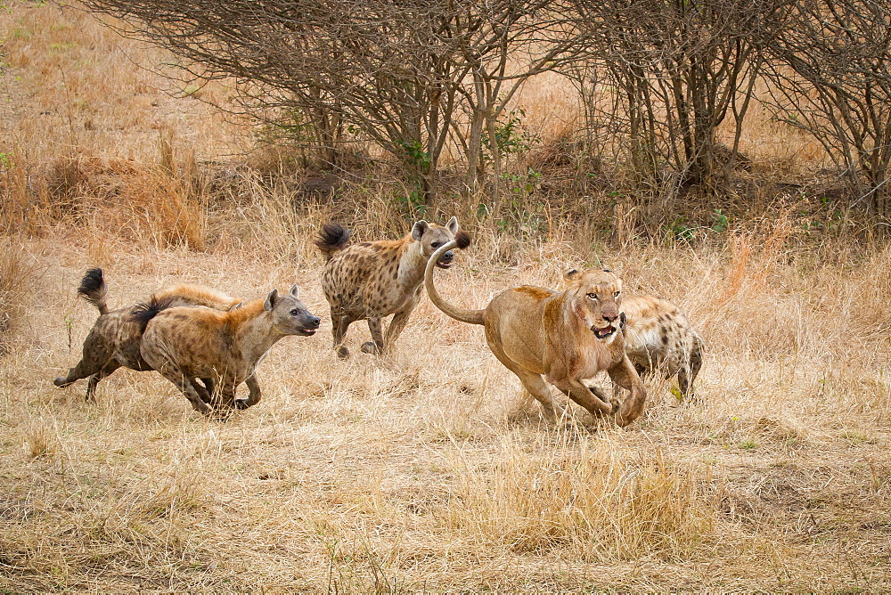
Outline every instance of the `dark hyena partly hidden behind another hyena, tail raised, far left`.
{"label": "dark hyena partly hidden behind another hyena, tail raised, far left", "polygon": [[[139,305],[109,310],[108,287],[102,269],[90,269],[80,281],[78,295],[96,306],[99,318],[84,341],[83,356],[78,365],[68,371],[68,375],[53,380],[57,387],[67,387],[76,380],[89,377],[86,384],[86,400],[92,401],[96,385],[120,367],[136,371],[149,371],[151,366],[139,354],[139,341],[145,325],[135,321],[133,314]],[[151,300],[164,302],[168,306],[205,306],[217,310],[228,310],[241,300],[226,296],[215,289],[201,285],[176,285],[161,289],[151,296]],[[213,392],[213,383],[208,389]]]}

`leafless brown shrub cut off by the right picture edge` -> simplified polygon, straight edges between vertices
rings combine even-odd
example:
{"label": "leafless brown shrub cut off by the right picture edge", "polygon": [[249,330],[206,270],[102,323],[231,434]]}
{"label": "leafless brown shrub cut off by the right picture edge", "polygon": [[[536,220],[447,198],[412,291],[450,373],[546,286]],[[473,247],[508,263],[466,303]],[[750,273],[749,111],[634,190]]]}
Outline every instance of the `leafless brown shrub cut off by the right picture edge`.
{"label": "leafless brown shrub cut off by the right picture edge", "polygon": [[816,138],[856,201],[891,216],[891,6],[800,0],[770,45],[772,107]]}

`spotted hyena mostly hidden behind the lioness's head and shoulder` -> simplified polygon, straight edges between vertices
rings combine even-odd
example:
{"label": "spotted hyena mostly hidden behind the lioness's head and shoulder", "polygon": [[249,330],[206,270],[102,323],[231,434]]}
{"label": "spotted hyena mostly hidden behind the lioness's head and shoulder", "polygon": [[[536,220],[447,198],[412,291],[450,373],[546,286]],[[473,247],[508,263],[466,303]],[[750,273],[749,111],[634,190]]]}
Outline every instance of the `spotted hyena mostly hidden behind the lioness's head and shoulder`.
{"label": "spotted hyena mostly hidden behind the lioness's head and shoulder", "polygon": [[702,367],[702,339],[687,317],[671,302],[641,295],[625,297],[625,353],[645,378],[658,370],[666,379],[677,375],[683,398],[692,392]]}

